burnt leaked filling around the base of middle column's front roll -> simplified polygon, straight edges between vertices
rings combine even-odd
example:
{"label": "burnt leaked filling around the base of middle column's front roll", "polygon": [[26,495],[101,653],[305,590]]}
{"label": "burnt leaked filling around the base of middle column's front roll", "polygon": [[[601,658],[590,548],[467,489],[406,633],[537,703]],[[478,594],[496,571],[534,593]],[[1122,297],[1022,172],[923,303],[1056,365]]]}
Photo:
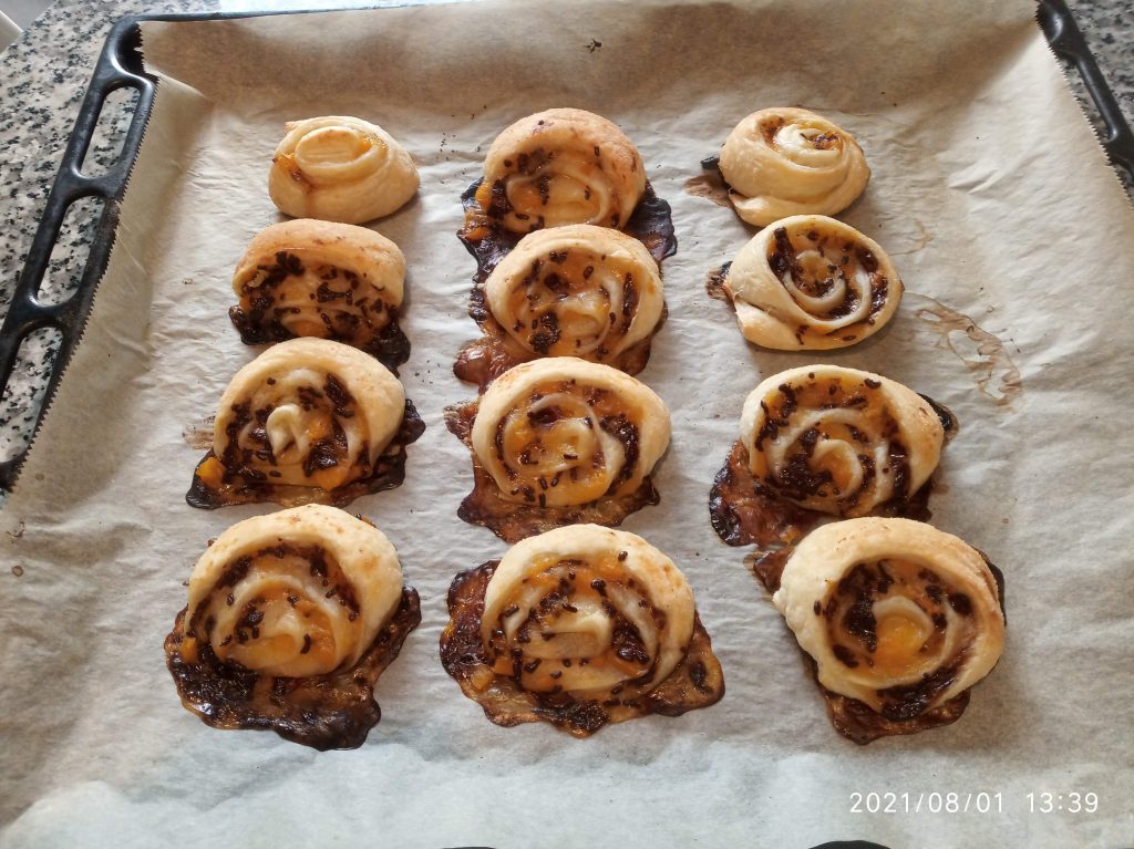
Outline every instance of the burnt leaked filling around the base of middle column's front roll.
{"label": "burnt leaked filling around the base of middle column's front roll", "polygon": [[[501,728],[515,728],[525,722],[544,721],[570,733],[573,737],[584,738],[590,737],[610,722],[620,722],[625,719],[650,714],[680,716],[689,711],[711,707],[723,698],[725,677],[720,659],[712,651],[712,638],[701,621],[700,611],[696,610],[694,610],[693,636],[682,662],[675,667],[674,671],[658,687],[635,696],[634,701],[638,703],[637,706],[620,705],[624,710],[629,711],[629,714],[623,720],[615,719],[598,699],[579,699],[569,694],[551,695],[531,693],[517,687],[511,678],[498,676],[494,672],[492,673],[494,678],[493,686],[498,686],[497,682],[501,679],[506,682],[505,687],[501,688],[503,698],[490,698],[491,693],[489,689],[477,694],[484,697],[483,701],[477,698],[474,695],[475,688],[469,687],[466,689],[466,684],[469,681],[467,670],[477,665],[489,665],[488,657],[484,655],[483,643],[481,642],[481,618],[484,613],[484,592],[488,588],[488,583],[492,574],[499,566],[499,560],[489,560],[479,567],[459,571],[454,576],[446,596],[449,621],[442,629],[440,638],[441,665],[449,677],[457,681],[462,693],[480,705],[489,722]],[[471,614],[462,618],[458,615],[462,612],[458,610],[462,606],[462,596],[469,589],[472,592],[472,595],[468,597]],[[700,655],[694,661],[695,665],[689,664],[689,651],[699,645],[714,661],[716,677],[719,678],[719,687],[717,689],[705,686],[705,676],[709,672],[704,669],[704,663],[700,660],[704,655]],[[449,651],[450,648],[452,651]],[[703,701],[675,704],[666,701],[668,690],[682,684],[683,673],[688,678],[689,686],[703,697]],[[663,694],[663,690],[667,693]],[[523,710],[517,704],[515,710],[509,711],[507,705],[499,704],[506,699],[526,703],[527,708]]]}

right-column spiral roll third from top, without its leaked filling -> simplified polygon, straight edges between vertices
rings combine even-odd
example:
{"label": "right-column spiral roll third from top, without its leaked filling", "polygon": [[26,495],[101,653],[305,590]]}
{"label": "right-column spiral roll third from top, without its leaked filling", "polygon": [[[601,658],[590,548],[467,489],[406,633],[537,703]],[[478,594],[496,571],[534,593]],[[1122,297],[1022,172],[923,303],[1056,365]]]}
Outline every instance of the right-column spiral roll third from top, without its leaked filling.
{"label": "right-column spiral roll third from top, without its leaked filling", "polygon": [[900,383],[816,365],[756,387],[744,402],[741,440],[761,485],[810,510],[856,517],[908,499],[929,479],[945,427]]}

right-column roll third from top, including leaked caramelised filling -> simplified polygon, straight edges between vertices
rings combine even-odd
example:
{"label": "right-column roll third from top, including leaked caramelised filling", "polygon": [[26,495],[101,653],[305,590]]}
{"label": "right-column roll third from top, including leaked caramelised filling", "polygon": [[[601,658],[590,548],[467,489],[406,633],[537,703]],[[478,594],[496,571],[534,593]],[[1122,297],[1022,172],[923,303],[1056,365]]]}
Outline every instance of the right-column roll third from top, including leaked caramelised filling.
{"label": "right-column roll third from top, including leaked caramelised filling", "polygon": [[772,375],[747,397],[709,512],[729,545],[792,543],[828,516],[929,519],[953,414],[900,383],[832,365]]}

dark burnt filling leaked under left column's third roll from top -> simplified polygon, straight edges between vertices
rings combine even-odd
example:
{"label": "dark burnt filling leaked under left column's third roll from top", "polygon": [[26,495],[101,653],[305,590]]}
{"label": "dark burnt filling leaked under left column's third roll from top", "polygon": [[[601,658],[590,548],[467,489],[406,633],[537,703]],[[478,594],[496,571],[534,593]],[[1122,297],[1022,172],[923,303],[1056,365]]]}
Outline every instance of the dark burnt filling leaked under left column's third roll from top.
{"label": "dark burnt filling leaked under left column's third roll from top", "polygon": [[[390,443],[379,455],[370,477],[352,481],[335,490],[327,491],[325,499],[313,498],[308,501],[296,503],[327,503],[335,507],[346,507],[363,495],[371,495],[375,492],[383,492],[400,486],[406,479],[406,461],[408,459],[406,447],[421,439],[423,433],[425,433],[425,423],[422,421],[421,415],[418,415],[417,408],[414,407],[414,402],[407,398],[405,411],[401,415],[401,424],[398,426],[397,433],[393,434],[393,439],[390,440]],[[202,510],[217,510],[218,508],[231,507],[234,504],[286,503],[285,496],[288,493],[296,494],[297,490],[307,489],[272,483],[262,485],[245,484],[239,487],[234,485],[230,487],[234,491],[232,496],[222,498],[219,492],[214,492],[205,486],[204,482],[197,475],[197,469],[215,456],[210,448],[193,470],[193,483],[189,484],[189,490],[185,493],[185,501],[189,507],[196,507]],[[310,489],[313,491],[318,490],[314,486]],[[279,499],[285,499],[285,501],[279,501]]]}

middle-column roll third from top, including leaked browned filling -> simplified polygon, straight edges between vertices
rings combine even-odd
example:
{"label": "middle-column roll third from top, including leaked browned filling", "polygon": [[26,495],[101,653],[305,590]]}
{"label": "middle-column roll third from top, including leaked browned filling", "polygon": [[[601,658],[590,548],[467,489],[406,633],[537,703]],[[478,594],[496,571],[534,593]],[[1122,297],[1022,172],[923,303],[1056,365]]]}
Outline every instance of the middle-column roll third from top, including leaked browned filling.
{"label": "middle-column roll third from top, including leaked browned filling", "polygon": [[447,419],[473,452],[475,487],[458,515],[508,542],[569,523],[617,525],[657,503],[649,474],[669,445],[669,410],[616,368],[524,363]]}

